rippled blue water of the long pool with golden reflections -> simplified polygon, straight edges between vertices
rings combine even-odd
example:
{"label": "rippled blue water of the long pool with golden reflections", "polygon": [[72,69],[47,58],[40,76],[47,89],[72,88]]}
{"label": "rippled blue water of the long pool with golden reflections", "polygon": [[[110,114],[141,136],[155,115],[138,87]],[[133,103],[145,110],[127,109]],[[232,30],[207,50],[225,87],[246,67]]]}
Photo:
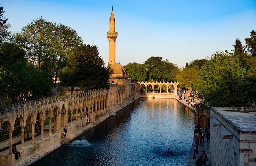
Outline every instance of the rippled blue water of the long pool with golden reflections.
{"label": "rippled blue water of the long pool with golden reflections", "polygon": [[185,166],[194,124],[175,99],[139,99],[34,166]]}

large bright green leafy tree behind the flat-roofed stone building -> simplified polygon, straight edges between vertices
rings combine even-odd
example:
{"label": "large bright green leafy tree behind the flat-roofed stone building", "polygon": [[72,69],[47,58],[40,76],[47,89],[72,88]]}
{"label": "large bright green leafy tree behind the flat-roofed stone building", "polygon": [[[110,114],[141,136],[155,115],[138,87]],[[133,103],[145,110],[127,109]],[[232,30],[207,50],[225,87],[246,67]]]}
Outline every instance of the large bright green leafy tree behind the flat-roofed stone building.
{"label": "large bright green leafy tree behind the flat-roofed stone building", "polygon": [[237,107],[248,100],[250,75],[233,53],[216,52],[208,57],[200,75],[205,103],[214,107]]}

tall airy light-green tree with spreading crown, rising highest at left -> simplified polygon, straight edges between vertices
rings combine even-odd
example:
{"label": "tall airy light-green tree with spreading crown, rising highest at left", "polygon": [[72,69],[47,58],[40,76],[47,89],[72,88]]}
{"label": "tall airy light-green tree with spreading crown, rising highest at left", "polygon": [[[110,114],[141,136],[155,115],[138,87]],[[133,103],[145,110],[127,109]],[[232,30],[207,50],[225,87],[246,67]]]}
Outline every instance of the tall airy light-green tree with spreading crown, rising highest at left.
{"label": "tall airy light-green tree with spreading crown, rising highest at left", "polygon": [[58,77],[68,57],[83,42],[72,28],[63,24],[56,25],[42,17],[23,27],[15,37],[36,68],[48,72],[52,78]]}

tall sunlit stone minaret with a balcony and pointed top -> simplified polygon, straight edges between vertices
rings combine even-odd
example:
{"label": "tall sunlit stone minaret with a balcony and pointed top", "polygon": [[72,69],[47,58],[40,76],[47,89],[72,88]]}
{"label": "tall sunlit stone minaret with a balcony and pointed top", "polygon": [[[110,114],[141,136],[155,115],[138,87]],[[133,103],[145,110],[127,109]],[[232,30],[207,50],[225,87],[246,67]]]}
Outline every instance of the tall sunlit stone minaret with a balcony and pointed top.
{"label": "tall sunlit stone minaret with a balcony and pointed top", "polygon": [[113,6],[112,13],[109,18],[109,32],[107,32],[108,37],[108,67],[111,64],[115,64],[116,59],[116,38],[117,32],[115,32],[115,17],[113,14]]}

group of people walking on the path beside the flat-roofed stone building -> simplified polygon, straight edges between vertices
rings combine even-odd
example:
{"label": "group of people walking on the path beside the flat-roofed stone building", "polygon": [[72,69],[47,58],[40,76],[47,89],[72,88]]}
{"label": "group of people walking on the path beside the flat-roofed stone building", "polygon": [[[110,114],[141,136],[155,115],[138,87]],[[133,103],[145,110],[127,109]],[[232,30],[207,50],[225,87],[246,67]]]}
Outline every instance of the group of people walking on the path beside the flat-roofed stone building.
{"label": "group of people walking on the path beside the flat-roofed stone building", "polygon": [[194,131],[194,138],[196,139],[195,145],[193,146],[194,148],[194,155],[193,159],[196,160],[196,165],[197,166],[205,166],[206,161],[208,161],[207,155],[205,154],[205,151],[203,150],[203,153],[201,156],[198,153],[198,146],[199,146],[199,141],[200,141],[200,146],[202,146],[202,142],[204,143],[204,138],[207,139],[207,143],[210,143],[210,132],[209,132],[209,125],[207,124],[205,126],[205,133],[204,131],[201,130],[201,125],[197,124],[196,129]]}

